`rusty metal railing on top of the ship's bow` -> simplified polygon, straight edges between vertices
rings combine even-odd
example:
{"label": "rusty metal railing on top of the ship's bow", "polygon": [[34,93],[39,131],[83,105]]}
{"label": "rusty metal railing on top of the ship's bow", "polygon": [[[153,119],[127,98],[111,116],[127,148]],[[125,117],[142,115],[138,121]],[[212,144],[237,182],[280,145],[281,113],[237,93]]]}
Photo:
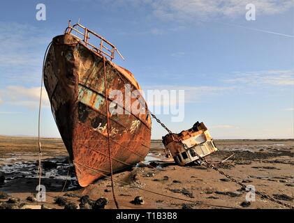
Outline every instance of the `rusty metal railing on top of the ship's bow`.
{"label": "rusty metal railing on top of the ship's bow", "polygon": [[[79,27],[82,29],[82,31],[78,30]],[[64,31],[64,33],[69,33],[75,38],[78,38],[82,41],[85,47],[91,49],[91,51],[93,51],[94,53],[98,53],[101,56],[108,56],[110,58],[110,61],[115,59],[115,52],[117,52],[119,56],[124,59],[124,56],[119,53],[115,45],[108,42],[108,40],[105,40],[105,38],[103,38],[102,36],[98,35],[94,31],[87,29],[79,23],[71,26],[71,20],[69,20],[68,27],[66,28],[66,31]],[[89,43],[90,39],[93,39],[91,40],[91,43]],[[96,45],[98,45],[98,47],[96,47]]]}

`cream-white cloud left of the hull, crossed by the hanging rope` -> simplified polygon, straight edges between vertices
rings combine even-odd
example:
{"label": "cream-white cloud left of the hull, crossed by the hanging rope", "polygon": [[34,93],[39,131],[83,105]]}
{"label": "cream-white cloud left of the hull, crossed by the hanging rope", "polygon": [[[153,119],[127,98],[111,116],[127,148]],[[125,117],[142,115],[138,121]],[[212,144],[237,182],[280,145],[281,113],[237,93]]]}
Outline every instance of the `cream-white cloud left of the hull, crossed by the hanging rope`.
{"label": "cream-white cloud left of the hull, crossed by the hanging rope", "polygon": [[[20,107],[35,109],[39,105],[41,87],[26,88],[24,86],[7,86],[0,90],[2,98],[6,98],[5,103]],[[43,88],[42,105],[50,107],[49,98],[45,88]]]}

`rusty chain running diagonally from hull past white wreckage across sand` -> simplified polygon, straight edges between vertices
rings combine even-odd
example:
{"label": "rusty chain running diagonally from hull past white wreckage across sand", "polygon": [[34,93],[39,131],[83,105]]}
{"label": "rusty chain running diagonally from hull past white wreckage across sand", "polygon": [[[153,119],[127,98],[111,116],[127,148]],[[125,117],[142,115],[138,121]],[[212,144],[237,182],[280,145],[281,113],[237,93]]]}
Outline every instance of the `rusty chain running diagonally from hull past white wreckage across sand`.
{"label": "rusty chain running diagonally from hull past white wreckage across sand", "polygon": [[[117,75],[119,75],[119,77],[122,79],[122,81],[124,82],[124,84],[126,84],[126,81],[125,81],[124,78],[119,74],[119,72],[117,72],[117,70],[115,70],[115,69],[113,69],[113,70],[117,73]],[[131,90],[131,89],[129,89],[129,90]],[[133,93],[133,92],[131,91],[131,93]],[[139,100],[139,101],[140,101],[140,100]],[[140,101],[140,103],[141,103],[141,101]],[[159,124],[160,124],[160,125],[161,125],[161,126],[162,126],[162,127],[168,132],[168,134],[173,134],[172,131],[171,131],[171,130],[170,130],[165,124],[163,124],[163,123],[160,121],[160,119],[156,117],[155,114],[153,114],[152,112],[150,112],[150,110],[149,110],[145,105],[143,105],[143,106],[145,107],[146,111],[152,116],[152,118],[154,118],[154,119],[156,120],[156,122],[159,123]],[[177,141],[178,141],[180,144],[182,144],[182,146],[184,146],[184,148],[185,148],[186,150],[189,149],[189,147],[188,147],[186,144],[184,144],[180,139],[177,139]],[[192,146],[191,148],[193,148],[193,146]],[[240,181],[236,180],[236,179],[233,178],[232,176],[230,176],[230,175],[224,173],[224,172],[221,171],[218,167],[215,167],[214,164],[212,164],[212,163],[208,162],[207,160],[205,160],[204,157],[201,157],[200,155],[198,155],[198,153],[195,153],[195,154],[196,154],[196,156],[199,158],[199,160],[201,160],[202,162],[204,162],[204,163],[207,165],[207,167],[210,167],[211,169],[214,169],[215,171],[218,171],[219,174],[221,174],[221,175],[223,175],[223,176],[226,176],[226,178],[228,178],[229,180],[231,180],[231,181],[234,182],[234,183],[237,183],[237,184],[240,185],[244,190],[246,190],[247,185],[245,185],[244,183],[241,183]],[[261,197],[263,197],[263,198],[265,198],[265,199],[268,199],[268,200],[270,200],[270,201],[272,201],[272,202],[274,202],[274,203],[279,203],[281,206],[286,206],[287,208],[294,209],[294,206],[291,206],[291,205],[288,204],[288,203],[284,203],[284,202],[278,201],[277,199],[274,199],[274,198],[270,197],[269,195],[267,195],[267,194],[265,194],[265,193],[263,193],[263,192],[259,192],[259,191],[256,191],[256,190],[254,190],[254,192],[255,192],[256,194],[260,195]]]}

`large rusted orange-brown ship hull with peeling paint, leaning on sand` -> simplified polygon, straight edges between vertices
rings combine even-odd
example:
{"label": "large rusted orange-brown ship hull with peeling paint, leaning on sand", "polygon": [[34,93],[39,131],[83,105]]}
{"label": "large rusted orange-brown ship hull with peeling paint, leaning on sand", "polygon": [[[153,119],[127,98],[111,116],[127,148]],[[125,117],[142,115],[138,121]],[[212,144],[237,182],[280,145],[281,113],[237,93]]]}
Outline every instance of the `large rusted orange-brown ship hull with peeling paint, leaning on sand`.
{"label": "large rusted orange-brown ship hull with peeling paint, leaning on sand", "polygon": [[110,174],[108,133],[113,171],[145,159],[151,138],[147,112],[133,114],[122,106],[124,114],[110,114],[109,132],[107,126],[106,103],[109,107],[113,99],[105,98],[105,84],[108,91],[122,90],[125,102],[126,84],[131,91],[140,89],[131,72],[108,60],[103,63],[103,56],[64,34],[52,40],[45,60],[44,84],[82,187]]}

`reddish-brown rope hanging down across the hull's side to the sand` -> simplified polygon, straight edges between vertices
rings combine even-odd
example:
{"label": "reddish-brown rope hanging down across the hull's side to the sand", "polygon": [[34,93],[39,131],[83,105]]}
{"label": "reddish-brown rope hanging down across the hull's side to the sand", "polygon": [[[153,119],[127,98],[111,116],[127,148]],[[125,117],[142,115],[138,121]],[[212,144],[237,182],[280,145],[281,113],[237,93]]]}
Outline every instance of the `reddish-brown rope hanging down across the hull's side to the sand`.
{"label": "reddish-brown rope hanging down across the hull's side to the sand", "polygon": [[105,57],[103,56],[103,68],[104,68],[104,89],[105,89],[105,102],[106,102],[106,114],[107,114],[107,134],[108,134],[108,153],[109,153],[109,164],[110,164],[110,179],[111,179],[111,187],[112,187],[112,197],[115,201],[115,206],[119,209],[119,203],[115,197],[115,186],[113,183],[113,171],[112,171],[112,156],[110,151],[110,120],[109,120],[109,111],[108,111],[108,91],[106,86],[106,66],[105,66]]}

